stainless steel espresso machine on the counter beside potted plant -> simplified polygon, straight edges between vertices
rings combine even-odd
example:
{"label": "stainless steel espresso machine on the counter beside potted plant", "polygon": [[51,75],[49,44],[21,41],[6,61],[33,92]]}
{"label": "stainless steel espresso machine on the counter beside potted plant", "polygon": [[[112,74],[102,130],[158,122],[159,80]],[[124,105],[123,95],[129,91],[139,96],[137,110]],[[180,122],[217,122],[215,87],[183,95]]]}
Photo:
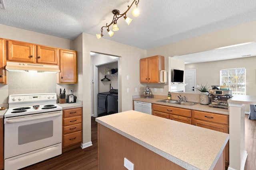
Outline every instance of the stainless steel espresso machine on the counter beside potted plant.
{"label": "stainless steel espresso machine on the counter beside potted plant", "polygon": [[210,90],[209,107],[228,109],[228,99],[232,98],[232,90]]}

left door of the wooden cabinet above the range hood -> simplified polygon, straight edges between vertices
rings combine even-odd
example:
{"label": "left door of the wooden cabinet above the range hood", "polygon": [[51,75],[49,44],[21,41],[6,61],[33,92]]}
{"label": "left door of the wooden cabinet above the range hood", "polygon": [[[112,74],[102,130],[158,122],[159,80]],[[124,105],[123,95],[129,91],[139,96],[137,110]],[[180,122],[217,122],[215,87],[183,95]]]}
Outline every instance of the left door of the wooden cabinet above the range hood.
{"label": "left door of the wooden cabinet above the range hood", "polygon": [[36,55],[36,46],[34,44],[13,40],[8,40],[7,44],[7,60],[34,63]]}

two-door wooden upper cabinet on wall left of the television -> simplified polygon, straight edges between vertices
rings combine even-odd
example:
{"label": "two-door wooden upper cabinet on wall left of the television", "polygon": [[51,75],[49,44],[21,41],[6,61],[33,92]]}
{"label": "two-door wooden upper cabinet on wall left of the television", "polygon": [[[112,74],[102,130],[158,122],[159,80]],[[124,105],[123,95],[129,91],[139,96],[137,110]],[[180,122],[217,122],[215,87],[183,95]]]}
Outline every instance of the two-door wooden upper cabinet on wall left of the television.
{"label": "two-door wooden upper cabinet on wall left of the television", "polygon": [[156,55],[140,59],[140,82],[160,83],[161,70],[164,70],[164,56]]}

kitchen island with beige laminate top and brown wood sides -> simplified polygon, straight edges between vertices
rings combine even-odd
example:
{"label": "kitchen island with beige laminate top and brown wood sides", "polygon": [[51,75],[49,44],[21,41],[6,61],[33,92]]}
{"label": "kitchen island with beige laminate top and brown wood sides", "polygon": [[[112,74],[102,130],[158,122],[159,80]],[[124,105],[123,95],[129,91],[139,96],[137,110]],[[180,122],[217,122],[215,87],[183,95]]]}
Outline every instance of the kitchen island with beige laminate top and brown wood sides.
{"label": "kitchen island with beige laminate top and brown wood sides", "polygon": [[134,110],[96,121],[99,170],[124,169],[124,158],[134,169],[225,169],[226,133]]}

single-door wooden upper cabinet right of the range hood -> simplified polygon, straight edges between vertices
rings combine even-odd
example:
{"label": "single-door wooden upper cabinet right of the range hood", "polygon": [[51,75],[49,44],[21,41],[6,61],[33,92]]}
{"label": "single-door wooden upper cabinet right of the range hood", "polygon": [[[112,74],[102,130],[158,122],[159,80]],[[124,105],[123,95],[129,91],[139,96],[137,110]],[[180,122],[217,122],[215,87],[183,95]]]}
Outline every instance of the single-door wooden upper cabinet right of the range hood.
{"label": "single-door wooden upper cabinet right of the range hood", "polygon": [[76,51],[60,49],[59,83],[77,83]]}

